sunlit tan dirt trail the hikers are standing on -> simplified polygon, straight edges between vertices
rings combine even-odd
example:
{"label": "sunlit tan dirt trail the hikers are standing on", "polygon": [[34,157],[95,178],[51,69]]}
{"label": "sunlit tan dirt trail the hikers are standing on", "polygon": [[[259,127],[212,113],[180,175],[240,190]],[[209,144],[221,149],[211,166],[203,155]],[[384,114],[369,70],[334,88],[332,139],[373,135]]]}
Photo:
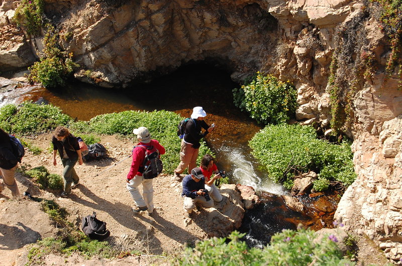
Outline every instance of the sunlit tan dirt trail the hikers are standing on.
{"label": "sunlit tan dirt trail the hikers are standing on", "polygon": [[[38,156],[27,152],[23,158],[23,165],[30,165],[30,168],[45,166],[50,173],[61,175],[60,159],[57,158],[58,165],[53,166],[52,155],[47,151],[51,142],[51,134],[40,135],[30,142],[43,149],[44,152]],[[180,196],[181,184],[176,182],[173,176],[161,175],[154,179],[155,211],[152,215],[149,215],[148,212],[133,214],[131,208],[134,206],[134,201],[126,189],[126,176],[131,165],[131,158],[99,174],[106,168],[127,158],[131,153],[133,142],[118,140],[114,136],[103,136],[100,143],[108,149],[109,156],[112,159],[91,161],[81,166],[77,164],[75,170],[80,177],[80,184],[72,190],[69,198],[59,197],[60,192],[51,193],[40,190],[30,179],[18,173],[17,181],[20,192],[29,191],[34,197],[55,199],[61,207],[67,209],[70,214],[68,219],[76,225],[80,225],[83,216],[95,211],[97,217],[105,221],[111,231],[111,237],[107,240],[117,244],[122,249],[137,249],[153,254],[175,253],[182,249],[185,242],[194,243],[198,239],[207,237],[202,229],[204,221],[201,214],[198,213],[192,220],[184,217],[183,199]],[[96,176],[97,174],[99,175]],[[6,188],[0,197],[10,198],[11,193]],[[6,204],[12,205],[12,202],[0,203],[0,208],[5,210],[4,206]],[[28,199],[19,199],[17,202],[22,203],[22,205],[38,205]],[[15,207],[9,206],[5,211],[13,211],[11,208]],[[36,209],[38,212],[28,219],[47,219],[46,215],[42,217],[43,212],[39,211],[39,206],[36,206]],[[13,213],[17,214],[13,217],[14,221],[9,219],[8,224],[3,225],[2,219],[0,226],[16,226],[17,222],[27,220],[27,217],[24,217],[26,212],[15,210]],[[50,221],[44,221],[41,226],[51,227]],[[42,237],[51,235],[50,233],[39,234]],[[2,243],[2,245],[4,248],[0,246],[0,256],[5,250],[9,250],[7,253],[9,257],[10,250],[13,250],[12,247],[15,246],[15,243]],[[1,264],[2,262],[0,262]]]}

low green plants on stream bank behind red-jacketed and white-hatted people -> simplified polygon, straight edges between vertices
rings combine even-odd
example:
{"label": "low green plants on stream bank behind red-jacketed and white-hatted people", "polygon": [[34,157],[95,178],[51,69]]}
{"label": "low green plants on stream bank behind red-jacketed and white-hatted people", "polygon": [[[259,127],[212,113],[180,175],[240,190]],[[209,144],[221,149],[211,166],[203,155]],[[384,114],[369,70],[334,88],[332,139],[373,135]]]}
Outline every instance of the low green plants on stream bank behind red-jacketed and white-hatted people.
{"label": "low green plants on stream bank behind red-jacketed and white-hatted people", "polygon": [[[177,138],[177,124],[183,119],[179,115],[169,111],[123,111],[119,113],[107,113],[97,115],[89,122],[78,121],[71,124],[70,128],[81,132],[93,132],[95,134],[122,134],[129,136],[137,142],[137,136],[134,136],[133,129],[145,126],[149,129],[153,139],[165,147],[166,154],[162,155],[164,172],[173,173],[177,167],[180,153],[180,139]],[[88,144],[88,143],[87,143]],[[127,153],[131,152],[127,149]],[[199,148],[197,163],[207,154],[212,154],[205,142],[202,142]]]}

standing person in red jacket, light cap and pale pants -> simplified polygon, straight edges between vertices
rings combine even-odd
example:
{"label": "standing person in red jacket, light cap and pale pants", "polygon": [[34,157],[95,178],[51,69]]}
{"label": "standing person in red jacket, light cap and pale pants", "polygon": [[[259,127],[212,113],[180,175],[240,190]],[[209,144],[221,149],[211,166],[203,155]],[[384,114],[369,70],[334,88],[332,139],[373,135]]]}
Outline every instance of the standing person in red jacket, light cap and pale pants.
{"label": "standing person in red jacket, light cap and pale pants", "polygon": [[[133,149],[133,161],[131,163],[130,172],[127,175],[127,189],[130,191],[134,199],[136,207],[132,211],[137,213],[139,211],[146,211],[151,214],[154,210],[154,190],[152,187],[153,179],[144,179],[142,173],[144,172],[144,159],[146,150],[149,153],[158,151],[160,155],[165,154],[165,148],[156,140],[151,140],[148,128],[141,126],[135,128],[133,133],[137,135],[139,143]],[[138,187],[142,184],[142,196]]]}

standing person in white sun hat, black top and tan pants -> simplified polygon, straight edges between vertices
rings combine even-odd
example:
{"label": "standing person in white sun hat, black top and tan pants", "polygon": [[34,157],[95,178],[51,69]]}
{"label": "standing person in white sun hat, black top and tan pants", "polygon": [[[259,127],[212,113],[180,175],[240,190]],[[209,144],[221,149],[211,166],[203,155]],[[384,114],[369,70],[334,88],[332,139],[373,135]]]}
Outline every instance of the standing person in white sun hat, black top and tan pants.
{"label": "standing person in white sun hat, black top and tan pants", "polygon": [[[188,168],[188,174],[190,174],[191,169],[195,168],[198,157],[199,141],[207,136],[214,126],[209,126],[204,118],[207,116],[206,111],[203,107],[195,106],[192,108],[191,119],[188,119],[184,128],[184,137],[181,140],[180,147],[180,163],[174,170],[176,175],[176,180],[182,180],[180,176],[186,168]],[[204,133],[201,133],[201,128],[205,129]]]}

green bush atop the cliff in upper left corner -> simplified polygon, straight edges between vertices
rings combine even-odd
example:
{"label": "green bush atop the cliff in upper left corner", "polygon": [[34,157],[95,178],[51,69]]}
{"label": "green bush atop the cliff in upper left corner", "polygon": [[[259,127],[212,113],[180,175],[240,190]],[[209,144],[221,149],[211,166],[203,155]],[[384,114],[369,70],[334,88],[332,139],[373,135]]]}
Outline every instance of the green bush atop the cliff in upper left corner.
{"label": "green bush atop the cliff in upper left corner", "polygon": [[24,27],[28,34],[39,36],[43,20],[43,0],[22,0],[13,20]]}

